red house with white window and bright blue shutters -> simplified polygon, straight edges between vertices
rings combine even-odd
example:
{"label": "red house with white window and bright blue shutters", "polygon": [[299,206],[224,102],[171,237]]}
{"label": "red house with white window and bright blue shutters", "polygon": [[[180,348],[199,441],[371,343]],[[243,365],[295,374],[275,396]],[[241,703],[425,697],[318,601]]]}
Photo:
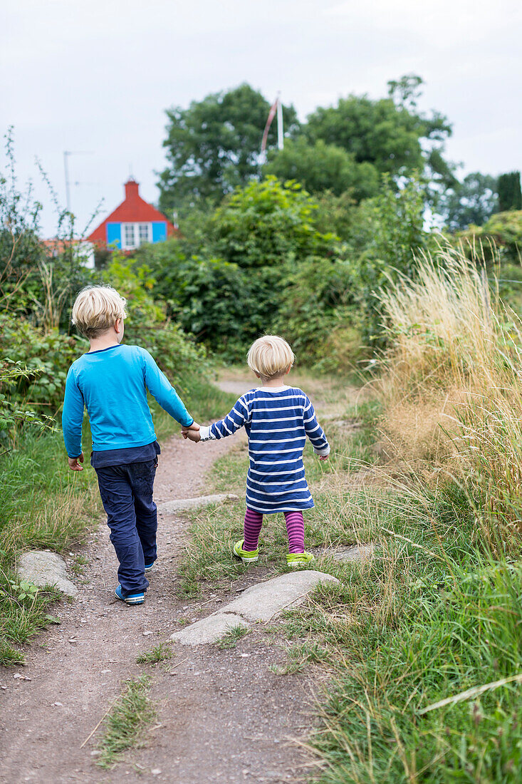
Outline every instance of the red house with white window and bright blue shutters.
{"label": "red house with white window and bright blue shutters", "polygon": [[144,242],[161,242],[173,237],[177,230],[161,212],[143,201],[139,184],[132,177],[125,183],[125,199],[87,240],[98,248],[116,246],[134,250]]}

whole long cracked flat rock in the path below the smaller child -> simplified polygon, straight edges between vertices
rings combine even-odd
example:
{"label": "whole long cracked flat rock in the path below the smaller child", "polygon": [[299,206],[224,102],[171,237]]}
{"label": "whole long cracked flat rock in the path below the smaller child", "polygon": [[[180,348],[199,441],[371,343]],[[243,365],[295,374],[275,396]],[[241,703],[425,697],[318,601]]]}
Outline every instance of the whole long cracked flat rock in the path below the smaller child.
{"label": "whole long cracked flat rock in the path below the smaller child", "polygon": [[183,645],[216,642],[234,626],[248,626],[248,622],[252,621],[270,621],[283,610],[297,607],[319,583],[339,583],[339,580],[313,569],[289,572],[266,580],[265,583],[248,588],[240,597],[207,618],[175,632],[171,639]]}

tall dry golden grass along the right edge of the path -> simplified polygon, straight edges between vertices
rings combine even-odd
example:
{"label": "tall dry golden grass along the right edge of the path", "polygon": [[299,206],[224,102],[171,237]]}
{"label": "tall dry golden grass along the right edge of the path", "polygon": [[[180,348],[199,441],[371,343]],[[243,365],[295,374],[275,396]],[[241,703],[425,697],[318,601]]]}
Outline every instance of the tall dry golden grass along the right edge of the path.
{"label": "tall dry golden grass along the right edge of the path", "polygon": [[393,346],[384,427],[398,452],[436,459],[466,483],[498,554],[518,542],[522,511],[522,322],[489,285],[484,258],[440,248],[418,263],[415,282],[381,298]]}

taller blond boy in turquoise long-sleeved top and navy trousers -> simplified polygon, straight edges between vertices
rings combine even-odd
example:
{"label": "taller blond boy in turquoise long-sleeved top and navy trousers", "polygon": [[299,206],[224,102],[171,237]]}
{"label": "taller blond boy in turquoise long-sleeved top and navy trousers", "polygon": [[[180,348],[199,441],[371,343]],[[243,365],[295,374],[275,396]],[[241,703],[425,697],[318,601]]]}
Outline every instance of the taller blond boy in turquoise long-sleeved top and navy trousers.
{"label": "taller blond boy in turquoise long-sleeved top and navy trousers", "polygon": [[184,427],[193,417],[148,351],[121,346],[125,299],[110,286],[88,286],[78,294],[72,322],[90,349],[69,368],[63,401],[63,440],[73,471],[82,471],[82,423],[87,408],[96,470],[111,542],[118,556],[114,595],[143,604],[145,572],[156,560],[156,504],[152,499],[160,448],[147,390]]}

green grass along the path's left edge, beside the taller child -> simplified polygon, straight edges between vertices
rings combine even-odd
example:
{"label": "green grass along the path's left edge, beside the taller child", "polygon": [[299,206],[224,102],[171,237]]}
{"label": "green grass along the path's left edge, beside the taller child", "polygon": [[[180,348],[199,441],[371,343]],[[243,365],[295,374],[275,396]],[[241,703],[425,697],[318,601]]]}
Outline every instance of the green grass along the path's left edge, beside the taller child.
{"label": "green grass along the path's left edge, beside the taller child", "polygon": [[53,590],[20,592],[17,555],[33,548],[63,550],[81,539],[100,506],[94,472],[68,470],[61,433],[27,429],[0,463],[0,664],[8,666],[24,661],[17,647],[49,625],[49,604],[59,596]]}

